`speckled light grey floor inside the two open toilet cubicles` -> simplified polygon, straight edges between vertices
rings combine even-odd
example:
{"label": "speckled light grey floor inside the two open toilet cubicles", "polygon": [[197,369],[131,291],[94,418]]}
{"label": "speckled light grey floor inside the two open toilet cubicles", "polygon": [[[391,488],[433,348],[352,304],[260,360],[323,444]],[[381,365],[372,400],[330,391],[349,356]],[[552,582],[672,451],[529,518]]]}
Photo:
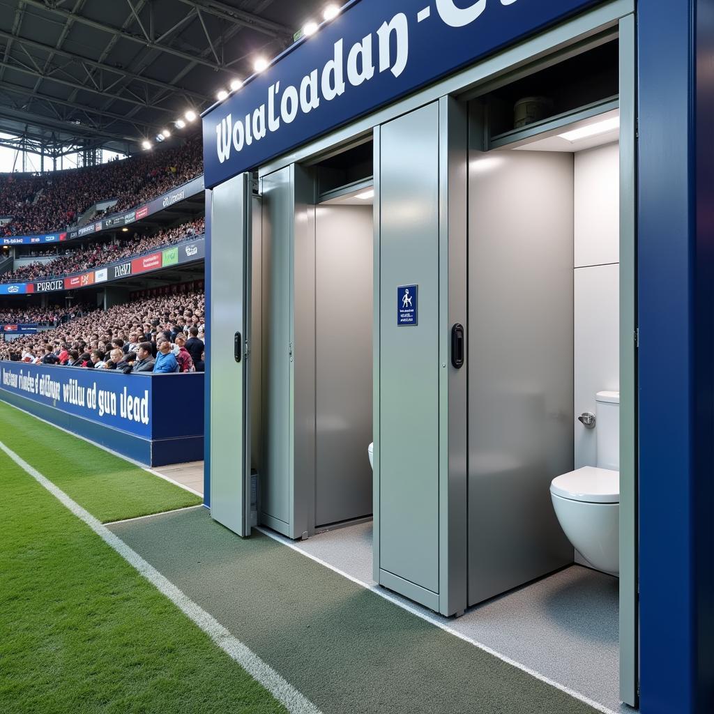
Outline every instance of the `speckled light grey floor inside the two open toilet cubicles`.
{"label": "speckled light grey floor inside the two open toilet cubicles", "polygon": [[[374,585],[372,523],[318,533],[294,545]],[[633,712],[618,698],[617,578],[573,565],[470,608],[461,618],[423,612],[613,712]]]}

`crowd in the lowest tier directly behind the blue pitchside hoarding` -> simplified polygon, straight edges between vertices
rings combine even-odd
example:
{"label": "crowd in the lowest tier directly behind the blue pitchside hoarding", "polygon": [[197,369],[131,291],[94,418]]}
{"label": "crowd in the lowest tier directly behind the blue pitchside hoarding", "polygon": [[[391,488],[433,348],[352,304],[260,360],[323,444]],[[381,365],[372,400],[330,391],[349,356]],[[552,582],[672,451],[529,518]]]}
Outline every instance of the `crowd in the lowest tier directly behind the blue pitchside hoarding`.
{"label": "crowd in the lowest tier directly behind the blue pitchside hoarding", "polygon": [[0,359],[127,374],[203,371],[205,308],[201,291],[95,310],[38,335],[0,342]]}

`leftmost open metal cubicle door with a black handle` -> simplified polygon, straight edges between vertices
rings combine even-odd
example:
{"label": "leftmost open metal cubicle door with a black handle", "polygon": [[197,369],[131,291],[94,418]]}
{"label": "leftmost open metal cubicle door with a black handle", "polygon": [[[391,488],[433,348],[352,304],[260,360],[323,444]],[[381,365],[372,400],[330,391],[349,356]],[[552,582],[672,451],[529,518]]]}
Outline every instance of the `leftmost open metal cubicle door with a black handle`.
{"label": "leftmost open metal cubicle door with a black handle", "polygon": [[241,174],[213,189],[208,276],[211,518],[243,536],[251,532],[251,183]]}

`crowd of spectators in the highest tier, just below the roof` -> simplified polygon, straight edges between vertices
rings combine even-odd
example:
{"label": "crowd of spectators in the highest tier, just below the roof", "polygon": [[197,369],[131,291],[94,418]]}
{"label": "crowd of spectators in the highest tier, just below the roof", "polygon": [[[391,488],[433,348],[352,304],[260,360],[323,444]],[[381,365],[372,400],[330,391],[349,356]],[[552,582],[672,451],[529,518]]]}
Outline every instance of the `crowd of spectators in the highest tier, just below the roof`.
{"label": "crowd of spectators in the highest tier, just below the roof", "polygon": [[112,211],[124,211],[203,173],[201,136],[182,146],[158,149],[131,159],[87,169],[41,175],[0,175],[0,216],[11,221],[0,235],[20,236],[61,231],[76,223],[96,203],[116,198]]}

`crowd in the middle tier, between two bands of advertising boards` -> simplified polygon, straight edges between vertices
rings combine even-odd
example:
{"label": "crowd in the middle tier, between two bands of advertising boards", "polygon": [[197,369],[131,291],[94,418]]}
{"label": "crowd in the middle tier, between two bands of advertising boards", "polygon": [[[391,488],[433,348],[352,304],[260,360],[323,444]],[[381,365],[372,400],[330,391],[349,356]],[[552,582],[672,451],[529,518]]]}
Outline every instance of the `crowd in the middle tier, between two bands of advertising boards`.
{"label": "crowd in the middle tier, between two bands of advertising boards", "polygon": [[115,243],[87,243],[77,250],[71,247],[66,248],[65,255],[55,258],[53,261],[29,263],[20,266],[14,271],[8,271],[0,276],[0,283],[31,282],[54,276],[69,275],[89,270],[90,268],[100,268],[107,263],[120,261],[122,258],[131,258],[141,255],[147,251],[171,246],[175,243],[188,240],[191,236],[198,236],[203,233],[205,219],[197,218],[196,221],[181,223],[175,228],[167,228],[151,236],[142,236],[134,233],[133,236],[119,238]]}

